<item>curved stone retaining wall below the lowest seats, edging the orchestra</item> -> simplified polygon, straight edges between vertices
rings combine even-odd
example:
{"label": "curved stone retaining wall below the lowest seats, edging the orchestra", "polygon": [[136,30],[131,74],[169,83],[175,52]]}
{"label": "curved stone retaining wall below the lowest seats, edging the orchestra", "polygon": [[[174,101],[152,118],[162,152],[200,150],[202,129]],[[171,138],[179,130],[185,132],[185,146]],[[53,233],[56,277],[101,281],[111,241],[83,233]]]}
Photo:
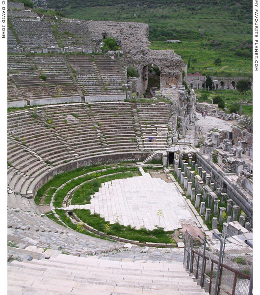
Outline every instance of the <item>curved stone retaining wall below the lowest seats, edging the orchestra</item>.
{"label": "curved stone retaining wall below the lowest seats, edging the orchestra", "polygon": [[[87,157],[80,160],[72,161],[67,164],[59,165],[51,169],[51,171],[43,173],[32,181],[28,189],[28,197],[35,197],[37,191],[55,175],[61,174],[67,171],[72,171],[77,168],[82,168],[95,164],[102,163],[117,163],[120,161],[141,161],[149,155],[148,152],[121,152],[113,153],[102,156]],[[32,195],[30,195],[32,194]]]}

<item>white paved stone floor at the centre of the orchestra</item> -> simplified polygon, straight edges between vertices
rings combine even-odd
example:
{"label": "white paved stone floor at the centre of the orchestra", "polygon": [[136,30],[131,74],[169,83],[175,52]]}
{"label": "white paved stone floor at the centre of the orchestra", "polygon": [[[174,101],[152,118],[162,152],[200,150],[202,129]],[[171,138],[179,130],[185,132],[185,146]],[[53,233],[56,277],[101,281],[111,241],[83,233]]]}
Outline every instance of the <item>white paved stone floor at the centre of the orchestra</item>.
{"label": "white paved stone floor at the centre of the orchestra", "polygon": [[[165,231],[182,228],[181,223],[194,221],[176,185],[148,173],[102,183],[91,198],[91,213],[98,213],[110,224],[119,222],[140,229],[153,230],[156,225]],[[162,211],[164,217],[157,215]]]}

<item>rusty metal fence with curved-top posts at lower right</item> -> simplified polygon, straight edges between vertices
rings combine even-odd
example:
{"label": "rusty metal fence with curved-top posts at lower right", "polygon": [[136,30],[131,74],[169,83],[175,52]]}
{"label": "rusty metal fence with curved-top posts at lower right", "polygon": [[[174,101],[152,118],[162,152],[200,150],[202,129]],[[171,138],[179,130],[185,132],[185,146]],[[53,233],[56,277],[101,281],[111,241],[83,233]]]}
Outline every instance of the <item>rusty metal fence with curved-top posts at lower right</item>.
{"label": "rusty metal fence with curved-top posts at lower right", "polygon": [[213,235],[220,241],[216,253],[206,250],[202,237],[199,236],[203,247],[195,248],[193,237],[188,232],[184,234],[184,267],[210,295],[252,295],[252,256],[241,257],[235,250],[225,253],[225,239]]}

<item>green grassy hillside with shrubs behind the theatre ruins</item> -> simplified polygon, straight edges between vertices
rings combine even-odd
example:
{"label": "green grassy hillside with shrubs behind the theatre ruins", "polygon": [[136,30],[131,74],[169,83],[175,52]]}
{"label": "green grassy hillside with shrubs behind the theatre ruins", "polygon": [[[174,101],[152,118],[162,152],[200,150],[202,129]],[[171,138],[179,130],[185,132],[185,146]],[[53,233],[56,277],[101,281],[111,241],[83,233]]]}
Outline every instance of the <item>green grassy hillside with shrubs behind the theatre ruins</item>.
{"label": "green grassy hillside with shrubs behind the theatre ruins", "polygon": [[148,23],[150,48],[173,49],[187,64],[190,59],[188,73],[252,76],[252,5],[247,0],[47,2],[71,18]]}

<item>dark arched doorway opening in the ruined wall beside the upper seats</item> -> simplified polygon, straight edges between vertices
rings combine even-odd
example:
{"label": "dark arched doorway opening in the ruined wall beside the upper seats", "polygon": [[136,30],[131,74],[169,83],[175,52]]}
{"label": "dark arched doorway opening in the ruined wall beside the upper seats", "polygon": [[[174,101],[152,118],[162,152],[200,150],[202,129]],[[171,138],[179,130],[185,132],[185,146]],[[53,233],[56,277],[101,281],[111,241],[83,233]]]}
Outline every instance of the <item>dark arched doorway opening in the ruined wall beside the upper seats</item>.
{"label": "dark arched doorway opening in the ruined wall beside the upper seats", "polygon": [[[155,91],[160,89],[160,69],[155,63],[150,63],[147,66],[147,87],[145,88],[145,97],[155,96]],[[144,67],[145,68],[145,67]]]}

